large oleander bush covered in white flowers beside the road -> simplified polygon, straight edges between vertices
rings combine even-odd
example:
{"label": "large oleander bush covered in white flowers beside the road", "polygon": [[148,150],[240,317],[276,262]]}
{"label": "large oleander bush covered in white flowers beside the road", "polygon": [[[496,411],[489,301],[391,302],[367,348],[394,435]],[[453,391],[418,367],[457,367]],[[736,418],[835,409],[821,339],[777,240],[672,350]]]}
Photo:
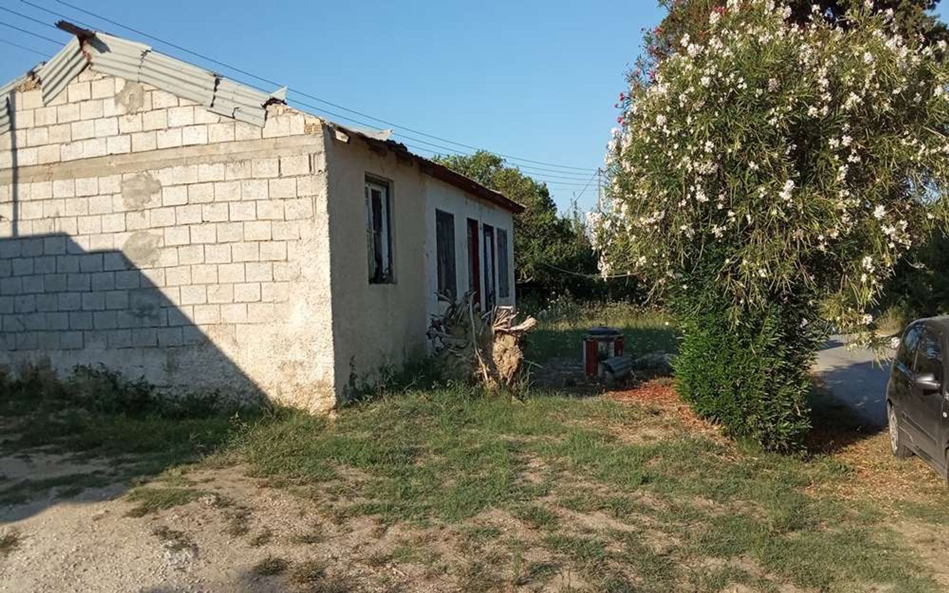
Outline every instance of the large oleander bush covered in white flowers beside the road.
{"label": "large oleander bush covered in white flowers beside the road", "polygon": [[682,395],[772,448],[808,428],[815,328],[872,342],[884,282],[949,219],[946,44],[862,8],[792,16],[728,0],[630,77],[595,223],[604,271],[670,299]]}

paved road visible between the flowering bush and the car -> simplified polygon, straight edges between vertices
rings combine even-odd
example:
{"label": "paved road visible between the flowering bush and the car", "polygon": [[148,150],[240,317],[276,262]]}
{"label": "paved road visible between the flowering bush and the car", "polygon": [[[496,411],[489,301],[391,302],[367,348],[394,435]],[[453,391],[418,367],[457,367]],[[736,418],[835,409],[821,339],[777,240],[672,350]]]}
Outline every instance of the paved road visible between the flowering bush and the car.
{"label": "paved road visible between the flowering bush and the car", "polygon": [[835,399],[850,407],[870,427],[886,426],[888,360],[878,362],[876,355],[865,349],[847,350],[843,337],[834,336],[817,353],[814,368]]}

